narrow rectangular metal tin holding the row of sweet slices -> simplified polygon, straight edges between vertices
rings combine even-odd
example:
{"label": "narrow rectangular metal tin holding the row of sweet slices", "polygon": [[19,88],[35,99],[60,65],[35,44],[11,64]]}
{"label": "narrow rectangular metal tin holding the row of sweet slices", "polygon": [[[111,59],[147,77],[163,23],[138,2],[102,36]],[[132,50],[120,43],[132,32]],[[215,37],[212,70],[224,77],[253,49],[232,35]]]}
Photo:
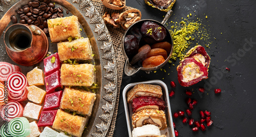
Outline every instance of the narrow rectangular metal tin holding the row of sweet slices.
{"label": "narrow rectangular metal tin holding the row of sweet slices", "polygon": [[162,82],[161,80],[150,80],[150,81],[144,81],[144,82],[131,83],[124,87],[124,89],[123,89],[123,104],[124,104],[124,110],[125,110],[125,116],[126,116],[126,122],[127,122],[129,136],[132,136],[132,130],[133,130],[133,124],[132,124],[133,109],[132,109],[132,104],[127,103],[126,93],[129,92],[135,85],[140,84],[140,83],[160,85],[162,87],[163,95],[162,95],[161,99],[163,99],[167,105],[167,107],[164,110],[166,121],[167,121],[167,128],[165,128],[164,130],[160,130],[160,131],[161,131],[161,134],[164,134],[168,137],[175,137],[172,112],[170,111],[168,88],[167,88],[166,84],[164,82]]}

